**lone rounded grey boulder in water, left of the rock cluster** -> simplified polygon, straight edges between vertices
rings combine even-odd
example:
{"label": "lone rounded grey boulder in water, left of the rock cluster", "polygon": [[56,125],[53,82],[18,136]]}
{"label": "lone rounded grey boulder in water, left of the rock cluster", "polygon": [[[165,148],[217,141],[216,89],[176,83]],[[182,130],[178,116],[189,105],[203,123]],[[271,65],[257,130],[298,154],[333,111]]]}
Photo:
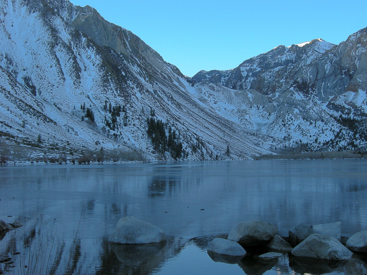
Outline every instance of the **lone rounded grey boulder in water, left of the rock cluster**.
{"label": "lone rounded grey boulder in water, left of the rock cluster", "polygon": [[135,217],[120,219],[112,232],[109,242],[117,244],[155,243],[166,239],[160,228],[138,220]]}

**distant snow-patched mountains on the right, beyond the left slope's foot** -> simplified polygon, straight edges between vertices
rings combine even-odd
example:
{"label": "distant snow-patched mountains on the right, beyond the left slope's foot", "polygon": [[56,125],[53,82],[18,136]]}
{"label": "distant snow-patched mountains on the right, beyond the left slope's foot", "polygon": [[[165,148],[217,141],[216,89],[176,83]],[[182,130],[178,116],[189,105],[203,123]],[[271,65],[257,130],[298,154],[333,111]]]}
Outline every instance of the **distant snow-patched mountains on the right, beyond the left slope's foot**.
{"label": "distant snow-patched mountains on the right, beyond the left slope's foot", "polygon": [[339,45],[320,38],[281,45],[233,70],[200,71],[191,81],[202,102],[250,129],[283,139],[283,146],[365,150],[366,32]]}

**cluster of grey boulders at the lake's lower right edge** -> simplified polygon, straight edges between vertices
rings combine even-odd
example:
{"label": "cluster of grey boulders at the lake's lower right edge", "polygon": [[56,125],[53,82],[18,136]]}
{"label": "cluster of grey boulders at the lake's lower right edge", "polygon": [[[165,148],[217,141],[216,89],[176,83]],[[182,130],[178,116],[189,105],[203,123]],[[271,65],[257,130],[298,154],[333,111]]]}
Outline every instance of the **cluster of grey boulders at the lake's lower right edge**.
{"label": "cluster of grey boulders at the lake's lower right edge", "polygon": [[[343,243],[342,243],[343,242]],[[341,222],[330,224],[298,224],[289,231],[261,221],[242,221],[228,235],[218,234],[207,248],[208,253],[226,256],[245,256],[248,247],[262,246],[271,251],[258,258],[276,258],[282,253],[323,260],[348,260],[355,253],[367,253],[367,231],[348,238],[341,234]],[[276,251],[276,252],[274,252]]]}

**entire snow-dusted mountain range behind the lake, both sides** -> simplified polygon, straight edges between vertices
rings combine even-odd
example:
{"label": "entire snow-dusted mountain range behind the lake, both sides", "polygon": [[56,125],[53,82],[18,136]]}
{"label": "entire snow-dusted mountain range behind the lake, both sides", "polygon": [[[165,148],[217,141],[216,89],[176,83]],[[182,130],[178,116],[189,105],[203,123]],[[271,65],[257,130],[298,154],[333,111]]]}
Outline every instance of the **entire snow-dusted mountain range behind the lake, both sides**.
{"label": "entire snow-dusted mountain range behind the lake, both sides", "polygon": [[[94,8],[0,2],[1,140],[34,146],[41,137],[71,155],[120,147],[148,159],[246,159],[300,140],[323,148],[340,129],[353,136],[331,115],[363,117],[366,30],[338,46],[279,46],[236,69],[189,78]],[[321,81],[315,68],[327,62]],[[341,92],[342,84],[351,88]]]}

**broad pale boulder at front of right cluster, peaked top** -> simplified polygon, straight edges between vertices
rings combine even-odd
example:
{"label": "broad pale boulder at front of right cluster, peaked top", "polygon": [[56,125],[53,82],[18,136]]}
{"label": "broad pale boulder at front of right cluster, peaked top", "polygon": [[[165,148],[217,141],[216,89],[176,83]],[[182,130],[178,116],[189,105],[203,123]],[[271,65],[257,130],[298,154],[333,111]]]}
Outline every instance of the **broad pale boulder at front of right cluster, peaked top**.
{"label": "broad pale boulder at front of right cluster, peaked top", "polygon": [[291,251],[293,256],[320,258],[324,260],[348,260],[353,253],[342,245],[337,239],[312,234]]}

